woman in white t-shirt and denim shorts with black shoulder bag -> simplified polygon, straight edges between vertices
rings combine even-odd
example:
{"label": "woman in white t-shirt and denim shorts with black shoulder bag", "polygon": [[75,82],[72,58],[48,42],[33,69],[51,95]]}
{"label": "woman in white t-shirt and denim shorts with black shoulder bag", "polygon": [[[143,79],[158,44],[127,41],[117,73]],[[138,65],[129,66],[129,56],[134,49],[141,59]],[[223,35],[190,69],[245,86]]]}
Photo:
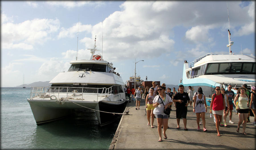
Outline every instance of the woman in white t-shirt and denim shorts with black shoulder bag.
{"label": "woman in white t-shirt and denim shorts with black shoulder bag", "polygon": [[153,107],[155,107],[155,109],[153,110],[153,114],[155,114],[156,120],[157,120],[157,130],[159,134],[158,141],[161,142],[162,141],[162,128],[161,128],[162,121],[163,121],[163,138],[167,139],[167,135],[165,131],[167,129],[168,115],[165,114],[163,111],[169,105],[171,105],[173,101],[171,100],[171,97],[168,94],[164,96],[162,86],[157,87],[156,95],[157,96],[155,96],[153,100]]}

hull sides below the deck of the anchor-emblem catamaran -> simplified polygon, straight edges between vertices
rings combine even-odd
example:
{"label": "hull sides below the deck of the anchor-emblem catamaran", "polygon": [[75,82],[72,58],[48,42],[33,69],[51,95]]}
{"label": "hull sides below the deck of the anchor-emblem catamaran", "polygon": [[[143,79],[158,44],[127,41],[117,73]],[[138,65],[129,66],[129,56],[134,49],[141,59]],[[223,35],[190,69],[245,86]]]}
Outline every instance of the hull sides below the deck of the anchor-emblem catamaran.
{"label": "hull sides below the deck of the anchor-emblem catamaran", "polygon": [[[81,102],[81,101],[73,101],[76,104],[64,100],[63,102],[59,101],[35,101],[35,100],[28,100],[34,118],[36,120],[37,125],[53,122],[67,116],[73,114],[73,110],[86,110],[87,108],[100,110],[104,112],[95,111],[97,115],[97,119],[100,126],[104,126],[114,122],[118,119],[118,114],[110,114],[105,112],[116,112],[116,113],[123,113],[127,101],[99,101],[99,102]],[[79,106],[79,105],[81,106]],[[82,107],[84,106],[84,107]],[[85,108],[87,107],[87,108]]]}

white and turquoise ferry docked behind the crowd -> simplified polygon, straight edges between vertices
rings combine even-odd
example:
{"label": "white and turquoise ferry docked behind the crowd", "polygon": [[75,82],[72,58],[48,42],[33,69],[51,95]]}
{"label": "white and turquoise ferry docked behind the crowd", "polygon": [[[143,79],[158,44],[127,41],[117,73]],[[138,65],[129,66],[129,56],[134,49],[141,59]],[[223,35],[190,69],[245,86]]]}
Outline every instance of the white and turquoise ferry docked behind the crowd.
{"label": "white and turquoise ferry docked behind the crowd", "polygon": [[[248,85],[248,90],[255,86],[256,63],[253,54],[232,53],[230,46],[234,42],[230,41],[229,36],[229,53],[215,54],[209,53],[194,59],[191,63],[185,60],[183,65],[183,77],[179,85],[189,89],[202,87],[206,97],[211,97],[215,93],[214,88],[217,86],[227,89],[228,84],[237,89],[243,84]],[[235,94],[236,90],[232,89]],[[208,102],[210,102],[208,100]],[[208,103],[209,104],[209,103]]]}

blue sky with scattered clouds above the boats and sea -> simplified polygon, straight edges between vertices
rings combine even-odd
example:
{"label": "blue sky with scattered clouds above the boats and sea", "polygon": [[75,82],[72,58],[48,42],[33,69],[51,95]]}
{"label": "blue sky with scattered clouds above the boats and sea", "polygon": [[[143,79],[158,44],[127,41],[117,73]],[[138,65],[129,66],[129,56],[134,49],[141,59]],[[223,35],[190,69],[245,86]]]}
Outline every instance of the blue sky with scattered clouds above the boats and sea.
{"label": "blue sky with scattered clouds above the boats and sea", "polygon": [[255,52],[255,1],[1,1],[1,87],[51,81],[95,35],[124,83],[136,59],[141,79],[178,85],[184,60],[229,52],[228,29],[232,52]]}

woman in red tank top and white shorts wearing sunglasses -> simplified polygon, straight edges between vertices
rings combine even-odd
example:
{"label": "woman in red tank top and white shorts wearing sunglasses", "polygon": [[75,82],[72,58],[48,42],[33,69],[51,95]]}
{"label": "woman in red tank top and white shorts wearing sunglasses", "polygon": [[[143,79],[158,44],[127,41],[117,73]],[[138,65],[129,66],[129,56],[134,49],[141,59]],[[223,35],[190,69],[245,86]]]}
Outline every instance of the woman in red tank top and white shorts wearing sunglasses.
{"label": "woman in red tank top and white shorts wearing sunglasses", "polygon": [[[223,113],[225,113],[225,99],[224,95],[220,93],[220,87],[215,87],[215,94],[212,94],[212,101],[211,101],[211,106],[210,106],[210,113],[213,112],[214,117],[216,119],[216,129],[217,129],[217,136],[220,136],[220,120],[222,118]],[[213,111],[212,111],[213,110]]]}

